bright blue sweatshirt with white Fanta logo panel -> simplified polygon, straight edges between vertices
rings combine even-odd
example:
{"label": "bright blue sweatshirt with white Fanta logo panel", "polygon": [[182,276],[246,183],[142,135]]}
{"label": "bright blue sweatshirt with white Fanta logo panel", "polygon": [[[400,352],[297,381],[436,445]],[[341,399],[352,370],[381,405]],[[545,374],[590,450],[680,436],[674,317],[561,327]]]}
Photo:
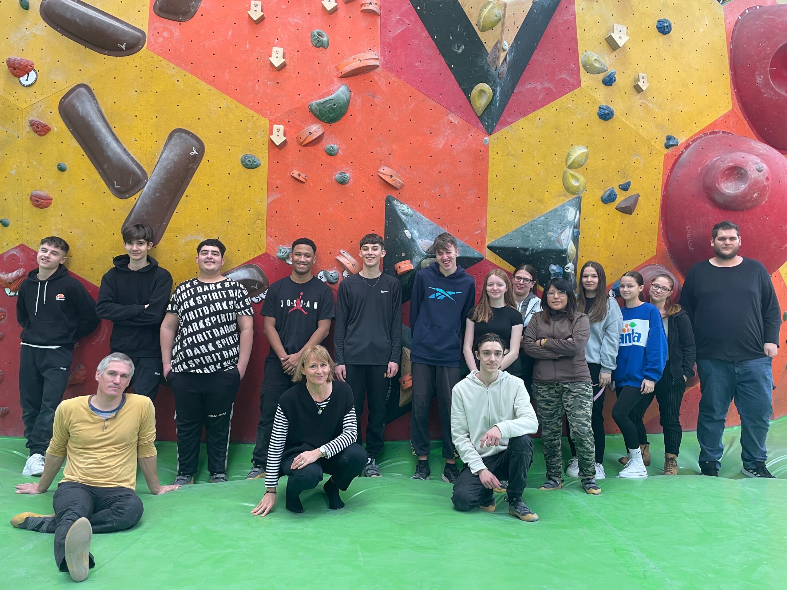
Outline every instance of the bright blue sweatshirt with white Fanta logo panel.
{"label": "bright blue sweatshirt with white Fanta logo panel", "polygon": [[667,363],[667,337],[661,312],[655,305],[643,303],[636,308],[621,308],[623,327],[620,330],[618,363],[612,371],[615,387],[639,388],[643,379],[657,382]]}

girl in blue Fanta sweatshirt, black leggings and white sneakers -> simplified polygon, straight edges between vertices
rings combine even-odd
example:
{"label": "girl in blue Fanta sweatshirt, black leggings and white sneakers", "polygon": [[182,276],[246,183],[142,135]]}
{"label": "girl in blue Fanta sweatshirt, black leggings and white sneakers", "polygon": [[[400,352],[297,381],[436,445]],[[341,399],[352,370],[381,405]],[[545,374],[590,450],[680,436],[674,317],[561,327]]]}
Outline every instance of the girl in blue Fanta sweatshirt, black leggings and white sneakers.
{"label": "girl in blue Fanta sweatshirt, black leggings and white sneakers", "polygon": [[653,393],[667,362],[667,338],[661,312],[642,299],[644,288],[645,281],[637,271],[627,272],[620,278],[620,296],[626,306],[621,309],[623,327],[620,330],[617,366],[612,371],[618,392],[612,418],[623,433],[628,460],[618,474],[619,478],[648,477],[634,423],[634,407],[642,396]]}

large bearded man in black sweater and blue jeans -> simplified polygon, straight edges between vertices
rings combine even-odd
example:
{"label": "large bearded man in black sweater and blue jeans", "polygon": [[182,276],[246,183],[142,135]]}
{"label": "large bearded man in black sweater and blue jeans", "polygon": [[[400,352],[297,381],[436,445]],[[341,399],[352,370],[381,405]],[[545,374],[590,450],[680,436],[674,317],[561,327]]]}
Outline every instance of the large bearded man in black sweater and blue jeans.
{"label": "large bearded man in black sweater and blue jeans", "polygon": [[700,470],[719,475],[724,423],[735,400],[741,415],[741,472],[773,478],[765,466],[765,439],[773,413],[771,362],[778,352],[779,302],[763,264],[737,255],[741,234],[735,223],[716,223],[711,247],[715,256],[689,269],[681,293],[694,329],[702,391],[696,425]]}

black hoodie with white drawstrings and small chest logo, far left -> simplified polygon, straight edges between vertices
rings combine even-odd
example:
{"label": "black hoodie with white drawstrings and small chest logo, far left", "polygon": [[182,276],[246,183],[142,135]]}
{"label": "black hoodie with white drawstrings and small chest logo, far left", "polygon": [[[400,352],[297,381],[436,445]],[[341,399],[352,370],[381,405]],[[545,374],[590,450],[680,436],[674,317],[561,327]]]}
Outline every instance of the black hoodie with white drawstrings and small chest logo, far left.
{"label": "black hoodie with white drawstrings and small chest logo, far left", "polygon": [[39,281],[38,268],[28,272],[17,295],[17,322],[25,344],[71,349],[99,319],[91,294],[61,264],[45,281]]}

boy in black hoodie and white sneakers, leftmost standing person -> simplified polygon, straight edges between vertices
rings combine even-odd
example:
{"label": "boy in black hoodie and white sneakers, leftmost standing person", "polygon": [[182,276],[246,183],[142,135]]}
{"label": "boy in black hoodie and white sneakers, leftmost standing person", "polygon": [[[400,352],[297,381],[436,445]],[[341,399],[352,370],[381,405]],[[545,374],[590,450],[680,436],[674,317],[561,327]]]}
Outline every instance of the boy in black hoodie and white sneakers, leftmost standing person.
{"label": "boy in black hoodie and white sneakers, leftmost standing person", "polygon": [[35,255],[39,267],[28,272],[17,296],[17,322],[22,326],[19,400],[30,452],[22,475],[43,473],[54,411],[68,385],[72,348],[98,326],[95,301],[68,274],[67,256],[64,239],[43,238]]}

